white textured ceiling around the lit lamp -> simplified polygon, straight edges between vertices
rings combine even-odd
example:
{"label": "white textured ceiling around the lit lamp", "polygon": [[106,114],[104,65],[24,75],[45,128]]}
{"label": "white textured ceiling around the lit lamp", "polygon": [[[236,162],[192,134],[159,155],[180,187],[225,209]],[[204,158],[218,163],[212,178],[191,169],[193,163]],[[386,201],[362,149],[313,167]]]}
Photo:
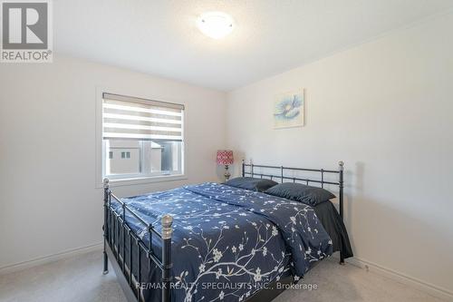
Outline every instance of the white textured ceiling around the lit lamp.
{"label": "white textured ceiling around the lit lamp", "polygon": [[[230,91],[453,7],[451,0],[55,0],[54,50]],[[224,40],[198,15],[232,15]]]}

